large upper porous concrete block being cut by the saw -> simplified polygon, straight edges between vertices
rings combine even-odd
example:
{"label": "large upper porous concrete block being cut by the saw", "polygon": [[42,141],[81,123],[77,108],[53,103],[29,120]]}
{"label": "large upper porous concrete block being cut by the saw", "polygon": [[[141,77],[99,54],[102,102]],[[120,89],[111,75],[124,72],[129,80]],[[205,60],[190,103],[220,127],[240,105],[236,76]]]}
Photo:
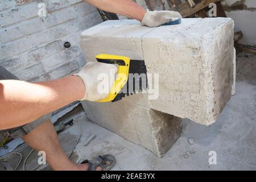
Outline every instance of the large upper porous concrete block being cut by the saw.
{"label": "large upper porous concrete block being cut by the saw", "polygon": [[159,75],[158,98],[137,94],[124,100],[210,125],[232,94],[233,28],[230,18],[183,19],[155,28],[114,20],[82,32],[80,44],[87,61],[100,53],[128,56],[144,60],[148,76]]}

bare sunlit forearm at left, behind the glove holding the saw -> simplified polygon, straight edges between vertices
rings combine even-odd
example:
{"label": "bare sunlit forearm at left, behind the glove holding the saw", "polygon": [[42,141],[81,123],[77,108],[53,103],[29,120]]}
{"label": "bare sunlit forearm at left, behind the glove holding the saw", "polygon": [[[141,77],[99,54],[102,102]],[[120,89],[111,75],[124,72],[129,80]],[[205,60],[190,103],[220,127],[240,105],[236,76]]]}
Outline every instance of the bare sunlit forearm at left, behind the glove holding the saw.
{"label": "bare sunlit forearm at left, behind the glove holding the saw", "polygon": [[0,129],[25,125],[44,114],[84,97],[79,77],[29,83],[0,80]]}

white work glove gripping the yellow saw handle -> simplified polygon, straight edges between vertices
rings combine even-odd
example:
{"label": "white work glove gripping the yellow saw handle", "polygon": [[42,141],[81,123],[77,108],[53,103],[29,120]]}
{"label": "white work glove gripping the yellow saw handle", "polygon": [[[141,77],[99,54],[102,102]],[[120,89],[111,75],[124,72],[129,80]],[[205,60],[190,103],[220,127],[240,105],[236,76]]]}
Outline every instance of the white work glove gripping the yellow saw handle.
{"label": "white work glove gripping the yellow saw handle", "polygon": [[81,99],[98,101],[106,98],[115,81],[117,67],[106,63],[87,63],[75,76],[84,82],[85,96]]}

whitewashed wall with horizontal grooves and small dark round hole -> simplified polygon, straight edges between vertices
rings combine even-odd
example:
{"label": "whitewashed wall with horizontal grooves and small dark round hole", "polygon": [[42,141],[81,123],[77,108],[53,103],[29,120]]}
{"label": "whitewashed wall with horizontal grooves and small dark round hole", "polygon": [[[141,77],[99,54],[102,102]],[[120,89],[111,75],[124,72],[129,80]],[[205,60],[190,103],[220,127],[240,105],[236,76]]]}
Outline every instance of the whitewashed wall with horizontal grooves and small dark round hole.
{"label": "whitewashed wall with horizontal grooves and small dark round hole", "polygon": [[[39,1],[0,1],[0,64],[18,78],[43,81],[77,72],[85,57],[81,31],[102,19],[82,0],[43,0],[47,16],[38,16]],[[64,48],[64,42],[70,48]]]}

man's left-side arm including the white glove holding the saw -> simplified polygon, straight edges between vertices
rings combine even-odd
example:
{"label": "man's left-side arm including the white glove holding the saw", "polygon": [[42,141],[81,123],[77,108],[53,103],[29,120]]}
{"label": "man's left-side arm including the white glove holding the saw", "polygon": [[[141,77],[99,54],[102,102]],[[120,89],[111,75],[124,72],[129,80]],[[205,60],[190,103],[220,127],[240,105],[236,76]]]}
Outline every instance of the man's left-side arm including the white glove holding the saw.
{"label": "man's left-side arm including the white glove holding the saw", "polygon": [[76,76],[53,81],[0,80],[0,130],[26,125],[77,100],[102,100],[111,86],[104,93],[98,92],[102,82],[98,75],[114,79],[116,73],[112,64],[87,63]]}

